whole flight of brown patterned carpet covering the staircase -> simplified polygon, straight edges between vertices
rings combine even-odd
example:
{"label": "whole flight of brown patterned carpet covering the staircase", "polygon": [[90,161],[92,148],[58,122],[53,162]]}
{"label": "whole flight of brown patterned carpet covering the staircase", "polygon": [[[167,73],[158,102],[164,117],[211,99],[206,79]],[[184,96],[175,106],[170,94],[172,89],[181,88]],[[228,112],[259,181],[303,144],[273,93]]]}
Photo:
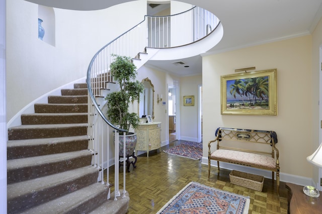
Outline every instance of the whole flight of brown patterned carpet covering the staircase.
{"label": "whole flight of brown patterned carpet covering the staircase", "polygon": [[36,103],[8,129],[8,213],[126,213],[129,197],[107,199],[88,150],[87,84]]}

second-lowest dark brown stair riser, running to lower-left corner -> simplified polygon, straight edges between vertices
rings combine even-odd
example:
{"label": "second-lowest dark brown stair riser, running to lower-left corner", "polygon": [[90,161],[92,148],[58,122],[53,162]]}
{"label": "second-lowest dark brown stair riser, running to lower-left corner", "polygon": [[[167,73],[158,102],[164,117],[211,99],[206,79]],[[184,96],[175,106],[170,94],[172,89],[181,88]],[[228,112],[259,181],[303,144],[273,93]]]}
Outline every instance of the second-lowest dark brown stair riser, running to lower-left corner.
{"label": "second-lowest dark brown stair riser, running to lower-left corner", "polygon": [[40,189],[38,191],[32,191],[28,194],[20,195],[17,198],[10,198],[7,201],[8,213],[20,213],[25,209],[29,209],[56,197],[74,192],[97,182],[97,176],[98,171],[96,173],[77,177],[73,180],[68,180],[64,183],[59,183],[55,186],[49,186],[48,188]]}

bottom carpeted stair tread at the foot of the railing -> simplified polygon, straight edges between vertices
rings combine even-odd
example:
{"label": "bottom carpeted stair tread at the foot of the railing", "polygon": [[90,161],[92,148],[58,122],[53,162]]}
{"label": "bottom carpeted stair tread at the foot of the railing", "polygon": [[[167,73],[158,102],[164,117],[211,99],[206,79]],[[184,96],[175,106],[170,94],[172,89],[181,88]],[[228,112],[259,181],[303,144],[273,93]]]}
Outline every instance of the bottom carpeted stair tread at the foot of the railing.
{"label": "bottom carpeted stair tread at the foot of the railing", "polygon": [[89,214],[125,214],[127,213],[130,197],[128,192],[125,193],[123,197],[123,190],[120,190],[121,196],[117,197],[117,200],[114,201],[114,192],[111,194],[111,198],[99,207],[91,211]]}

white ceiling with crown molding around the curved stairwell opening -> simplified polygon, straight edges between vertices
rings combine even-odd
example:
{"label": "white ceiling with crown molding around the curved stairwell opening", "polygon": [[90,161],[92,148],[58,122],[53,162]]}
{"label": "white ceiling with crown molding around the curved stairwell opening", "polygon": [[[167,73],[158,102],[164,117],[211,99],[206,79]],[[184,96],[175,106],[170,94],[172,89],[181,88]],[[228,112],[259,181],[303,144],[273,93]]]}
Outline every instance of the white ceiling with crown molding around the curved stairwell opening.
{"label": "white ceiling with crown molding around the curved stairwell opening", "polygon": [[[56,8],[98,10],[131,0],[26,1]],[[181,2],[210,11],[223,25],[222,40],[205,54],[309,35],[322,17],[322,0],[181,0]],[[180,76],[202,72],[201,56],[181,60],[190,67],[173,65],[173,61],[149,62],[148,66],[171,71]]]}

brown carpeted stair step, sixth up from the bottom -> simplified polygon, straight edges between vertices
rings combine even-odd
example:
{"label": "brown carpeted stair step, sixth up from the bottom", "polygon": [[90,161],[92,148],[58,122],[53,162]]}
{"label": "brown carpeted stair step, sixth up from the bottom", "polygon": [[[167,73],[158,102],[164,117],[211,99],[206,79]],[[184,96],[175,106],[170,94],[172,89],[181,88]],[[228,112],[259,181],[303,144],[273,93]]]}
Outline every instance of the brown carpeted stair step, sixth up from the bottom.
{"label": "brown carpeted stair step, sixth up from the bottom", "polygon": [[21,125],[8,129],[9,140],[87,135],[88,124]]}

